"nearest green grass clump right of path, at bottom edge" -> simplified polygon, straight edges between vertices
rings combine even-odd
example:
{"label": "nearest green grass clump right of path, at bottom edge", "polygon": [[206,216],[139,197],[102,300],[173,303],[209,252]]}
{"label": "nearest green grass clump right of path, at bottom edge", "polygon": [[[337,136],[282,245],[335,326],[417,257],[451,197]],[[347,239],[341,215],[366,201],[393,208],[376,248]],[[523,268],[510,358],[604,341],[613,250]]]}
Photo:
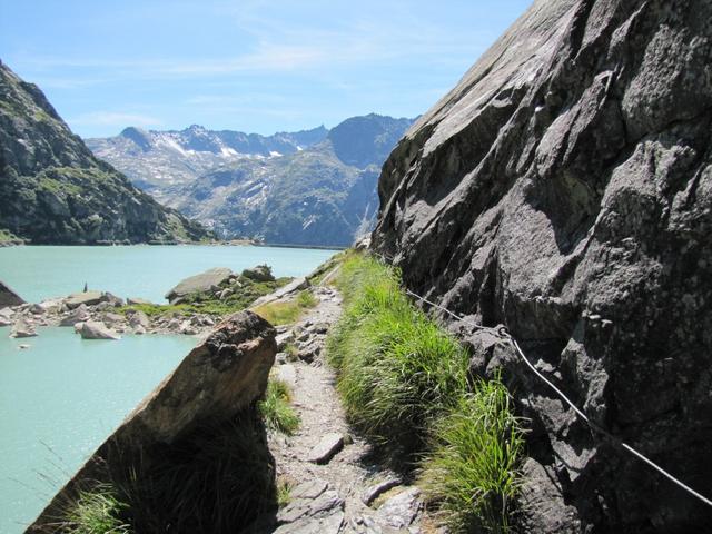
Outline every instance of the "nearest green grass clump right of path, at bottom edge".
{"label": "nearest green grass clump right of path, at bottom edge", "polygon": [[434,425],[419,484],[452,532],[510,532],[524,446],[510,403],[501,382],[479,380]]}

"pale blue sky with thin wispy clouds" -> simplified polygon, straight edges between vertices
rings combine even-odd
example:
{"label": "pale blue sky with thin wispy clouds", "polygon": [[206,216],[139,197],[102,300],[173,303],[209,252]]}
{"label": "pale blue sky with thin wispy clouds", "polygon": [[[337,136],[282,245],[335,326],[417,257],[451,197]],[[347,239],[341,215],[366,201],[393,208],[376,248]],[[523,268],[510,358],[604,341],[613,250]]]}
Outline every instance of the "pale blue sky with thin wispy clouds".
{"label": "pale blue sky with thin wispy clouds", "polygon": [[0,0],[0,59],[85,137],[426,111],[530,0]]}

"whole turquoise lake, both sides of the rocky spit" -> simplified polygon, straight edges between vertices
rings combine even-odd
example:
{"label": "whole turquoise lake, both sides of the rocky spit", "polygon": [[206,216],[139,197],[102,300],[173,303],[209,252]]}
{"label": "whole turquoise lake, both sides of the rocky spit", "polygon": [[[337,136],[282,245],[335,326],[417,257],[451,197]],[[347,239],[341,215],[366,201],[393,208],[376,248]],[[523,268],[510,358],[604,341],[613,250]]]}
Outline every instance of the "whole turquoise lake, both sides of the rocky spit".
{"label": "whole turquoise lake, both sides of the rocky spit", "polygon": [[[269,247],[0,248],[0,280],[29,301],[93,289],[164,301],[211,267],[306,275],[334,251]],[[83,340],[72,328],[11,339],[0,328],[0,534],[19,534],[98,445],[196,345],[188,336]],[[30,345],[20,349],[22,344]]]}

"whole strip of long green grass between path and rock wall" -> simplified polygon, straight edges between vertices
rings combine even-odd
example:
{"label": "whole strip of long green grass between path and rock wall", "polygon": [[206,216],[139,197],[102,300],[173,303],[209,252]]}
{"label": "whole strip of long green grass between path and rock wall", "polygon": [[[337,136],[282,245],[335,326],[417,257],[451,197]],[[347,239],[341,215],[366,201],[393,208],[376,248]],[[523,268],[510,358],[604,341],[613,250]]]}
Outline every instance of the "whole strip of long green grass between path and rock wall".
{"label": "whole strip of long green grass between path and rock wall", "polygon": [[327,350],[348,418],[422,474],[453,532],[508,532],[523,438],[506,388],[471,379],[467,352],[411,303],[396,269],[349,251],[336,286],[345,307]]}

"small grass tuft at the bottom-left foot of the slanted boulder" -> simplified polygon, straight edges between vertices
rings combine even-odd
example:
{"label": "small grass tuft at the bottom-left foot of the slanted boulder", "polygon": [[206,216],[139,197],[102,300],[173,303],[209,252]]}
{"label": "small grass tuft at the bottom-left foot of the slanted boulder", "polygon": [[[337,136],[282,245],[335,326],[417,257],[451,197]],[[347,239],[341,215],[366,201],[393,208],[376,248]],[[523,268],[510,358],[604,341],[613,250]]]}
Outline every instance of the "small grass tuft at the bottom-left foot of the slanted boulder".
{"label": "small grass tuft at the bottom-left foot of the slanted boulder", "polygon": [[67,512],[61,532],[67,534],[130,534],[121,518],[128,505],[120,502],[111,486],[99,485],[81,492]]}

